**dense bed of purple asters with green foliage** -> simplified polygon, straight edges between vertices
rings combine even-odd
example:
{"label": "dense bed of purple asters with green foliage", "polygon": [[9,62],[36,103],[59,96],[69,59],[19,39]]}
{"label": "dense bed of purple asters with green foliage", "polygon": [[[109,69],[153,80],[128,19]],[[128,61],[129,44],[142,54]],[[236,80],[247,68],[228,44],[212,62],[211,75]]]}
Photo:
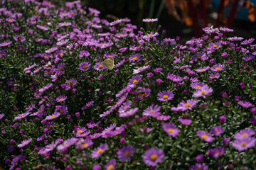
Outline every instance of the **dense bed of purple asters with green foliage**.
{"label": "dense bed of purple asters with green foliage", "polygon": [[253,38],[181,45],[80,1],[0,13],[4,168],[255,169]]}

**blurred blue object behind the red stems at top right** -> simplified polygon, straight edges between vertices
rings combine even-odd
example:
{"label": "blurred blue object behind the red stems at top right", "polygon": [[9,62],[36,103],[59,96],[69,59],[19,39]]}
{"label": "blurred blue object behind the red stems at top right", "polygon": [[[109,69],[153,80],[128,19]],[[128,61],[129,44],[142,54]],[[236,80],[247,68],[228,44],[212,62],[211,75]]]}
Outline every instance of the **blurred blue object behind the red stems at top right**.
{"label": "blurred blue object behind the red stems at top right", "polygon": [[[256,0],[250,0],[253,4],[256,4]],[[241,1],[240,1],[241,2]],[[213,0],[212,1],[212,5],[213,5],[213,10],[214,11],[218,11],[218,6],[220,4],[220,0]],[[231,6],[230,6],[231,7]],[[238,5],[238,8],[240,8],[240,4]],[[225,10],[225,8],[224,8]],[[225,11],[225,16],[228,17],[228,13],[229,13],[229,10],[230,8],[227,8],[226,11]],[[238,19],[238,20],[242,20],[242,21],[249,21],[249,18],[248,18],[248,13],[247,13],[247,8],[244,7],[242,8],[239,12],[238,12],[238,16],[235,18],[235,19]]]}

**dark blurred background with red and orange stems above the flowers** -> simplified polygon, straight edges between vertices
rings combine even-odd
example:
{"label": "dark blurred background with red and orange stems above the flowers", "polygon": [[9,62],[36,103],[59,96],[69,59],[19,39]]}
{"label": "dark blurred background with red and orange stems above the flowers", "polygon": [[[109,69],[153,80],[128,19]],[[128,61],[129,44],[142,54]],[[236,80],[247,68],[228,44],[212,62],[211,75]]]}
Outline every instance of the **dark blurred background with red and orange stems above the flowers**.
{"label": "dark blurred background with red and orange stems above the flowers", "polygon": [[145,27],[144,18],[158,18],[157,26],[169,38],[181,42],[200,37],[201,28],[228,27],[230,36],[256,38],[256,0],[81,0],[82,5],[99,10],[100,18],[129,18]]}

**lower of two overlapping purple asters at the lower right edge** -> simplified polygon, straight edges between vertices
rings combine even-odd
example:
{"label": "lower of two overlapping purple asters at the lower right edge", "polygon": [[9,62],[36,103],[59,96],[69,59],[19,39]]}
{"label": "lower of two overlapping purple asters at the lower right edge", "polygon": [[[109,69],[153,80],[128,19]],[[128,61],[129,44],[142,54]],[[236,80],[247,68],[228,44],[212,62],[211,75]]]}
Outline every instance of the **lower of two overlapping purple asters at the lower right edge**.
{"label": "lower of two overlapping purple asters at the lower right edge", "polygon": [[238,149],[239,152],[255,147],[256,139],[254,137],[241,138],[240,140],[235,140],[232,147]]}

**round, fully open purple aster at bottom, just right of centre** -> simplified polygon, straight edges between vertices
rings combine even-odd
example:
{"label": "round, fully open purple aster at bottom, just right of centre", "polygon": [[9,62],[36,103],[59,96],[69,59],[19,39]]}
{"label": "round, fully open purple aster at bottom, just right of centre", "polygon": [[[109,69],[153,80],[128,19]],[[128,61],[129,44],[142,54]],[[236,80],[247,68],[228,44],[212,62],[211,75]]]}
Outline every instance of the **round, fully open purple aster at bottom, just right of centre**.
{"label": "round, fully open purple aster at bottom, just right of centre", "polygon": [[163,159],[163,150],[154,147],[147,150],[143,156],[143,161],[147,166],[156,166],[156,164],[163,162]]}

